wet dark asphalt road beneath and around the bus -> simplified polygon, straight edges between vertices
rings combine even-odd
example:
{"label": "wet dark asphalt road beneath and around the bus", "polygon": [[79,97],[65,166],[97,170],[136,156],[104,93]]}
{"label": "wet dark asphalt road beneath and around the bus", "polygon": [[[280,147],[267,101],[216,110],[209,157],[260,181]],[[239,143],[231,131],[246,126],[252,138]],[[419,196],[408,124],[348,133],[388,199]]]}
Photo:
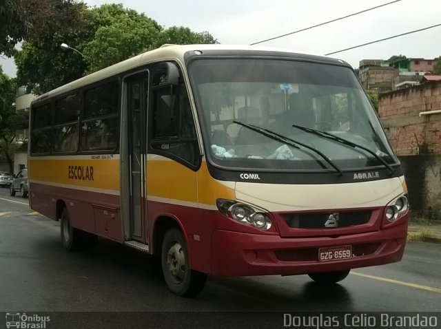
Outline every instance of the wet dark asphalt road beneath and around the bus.
{"label": "wet dark asphalt road beneath and around the bus", "polygon": [[401,262],[353,270],[328,288],[307,275],[209,277],[185,299],[148,255],[101,239],[71,253],[59,235],[59,222],[0,188],[0,312],[441,311],[441,244],[409,242]]}

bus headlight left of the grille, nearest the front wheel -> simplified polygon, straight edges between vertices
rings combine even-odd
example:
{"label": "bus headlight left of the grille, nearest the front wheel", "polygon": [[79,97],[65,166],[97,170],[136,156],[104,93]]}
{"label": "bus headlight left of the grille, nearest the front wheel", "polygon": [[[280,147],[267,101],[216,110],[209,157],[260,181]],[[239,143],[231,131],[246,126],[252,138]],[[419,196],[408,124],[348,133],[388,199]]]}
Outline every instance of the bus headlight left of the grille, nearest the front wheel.
{"label": "bus headlight left of the grille, nearest the front wheel", "polygon": [[253,209],[247,204],[241,204],[232,200],[218,199],[216,206],[225,216],[230,217],[242,224],[251,224],[256,229],[269,230],[271,218],[258,209]]}

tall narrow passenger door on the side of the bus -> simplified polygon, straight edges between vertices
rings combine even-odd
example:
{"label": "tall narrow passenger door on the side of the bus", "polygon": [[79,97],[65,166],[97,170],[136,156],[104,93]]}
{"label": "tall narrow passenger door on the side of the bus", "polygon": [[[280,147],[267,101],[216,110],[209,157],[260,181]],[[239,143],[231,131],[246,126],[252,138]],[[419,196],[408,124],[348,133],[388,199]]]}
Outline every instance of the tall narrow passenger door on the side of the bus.
{"label": "tall narrow passenger door on the side of the bus", "polygon": [[[127,144],[129,156],[130,240],[147,244],[146,136],[148,74],[127,78]],[[127,176],[126,176],[127,177]]]}

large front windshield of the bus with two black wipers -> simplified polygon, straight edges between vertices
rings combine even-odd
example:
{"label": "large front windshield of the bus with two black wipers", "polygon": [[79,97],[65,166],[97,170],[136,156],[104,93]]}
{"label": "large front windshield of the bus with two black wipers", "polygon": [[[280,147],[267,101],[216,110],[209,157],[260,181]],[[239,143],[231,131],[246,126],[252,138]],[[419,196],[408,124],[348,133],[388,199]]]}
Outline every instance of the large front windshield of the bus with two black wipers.
{"label": "large front windshield of the bus with two black wipers", "polygon": [[398,162],[349,67],[198,59],[189,65],[189,76],[207,158],[218,167],[391,170]]}

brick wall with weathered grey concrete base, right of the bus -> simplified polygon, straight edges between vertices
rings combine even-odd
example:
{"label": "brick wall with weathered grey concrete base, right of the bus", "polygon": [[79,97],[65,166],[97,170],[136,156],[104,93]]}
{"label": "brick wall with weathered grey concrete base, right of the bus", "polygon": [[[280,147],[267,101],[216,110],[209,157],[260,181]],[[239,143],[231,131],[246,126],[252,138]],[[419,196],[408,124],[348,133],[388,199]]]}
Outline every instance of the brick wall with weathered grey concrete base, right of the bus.
{"label": "brick wall with weathered grey concrete base, right of the bus", "polygon": [[378,114],[402,161],[412,209],[441,220],[441,82],[380,96]]}

